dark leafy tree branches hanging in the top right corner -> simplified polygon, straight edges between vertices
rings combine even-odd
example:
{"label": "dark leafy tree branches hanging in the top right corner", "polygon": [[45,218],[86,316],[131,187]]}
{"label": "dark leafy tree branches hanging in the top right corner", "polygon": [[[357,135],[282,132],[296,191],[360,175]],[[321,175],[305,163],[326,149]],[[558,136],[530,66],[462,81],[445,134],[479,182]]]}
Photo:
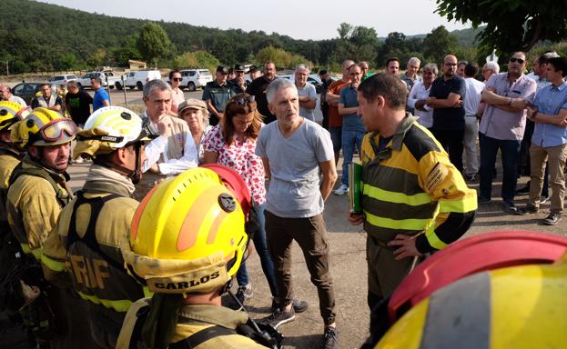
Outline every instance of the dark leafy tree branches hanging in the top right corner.
{"label": "dark leafy tree branches hanging in the top right corner", "polygon": [[529,51],[542,40],[567,37],[567,2],[556,0],[436,0],[441,16],[472,27],[487,24],[477,35],[483,53],[496,48],[500,53]]}

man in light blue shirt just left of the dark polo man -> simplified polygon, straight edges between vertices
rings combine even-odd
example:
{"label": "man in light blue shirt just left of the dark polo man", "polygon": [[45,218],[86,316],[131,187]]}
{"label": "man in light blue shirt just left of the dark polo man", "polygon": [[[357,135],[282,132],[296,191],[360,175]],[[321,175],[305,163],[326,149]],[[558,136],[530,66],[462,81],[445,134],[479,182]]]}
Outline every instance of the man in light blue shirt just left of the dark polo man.
{"label": "man in light blue shirt just left of the dark polo man", "polygon": [[[413,109],[413,115],[419,117],[418,123],[430,129],[433,126],[433,109],[426,105],[430,96],[433,81],[437,79],[439,69],[434,63],[428,63],[423,67],[423,79],[413,85],[408,95],[407,108]],[[406,109],[407,110],[407,109]]]}

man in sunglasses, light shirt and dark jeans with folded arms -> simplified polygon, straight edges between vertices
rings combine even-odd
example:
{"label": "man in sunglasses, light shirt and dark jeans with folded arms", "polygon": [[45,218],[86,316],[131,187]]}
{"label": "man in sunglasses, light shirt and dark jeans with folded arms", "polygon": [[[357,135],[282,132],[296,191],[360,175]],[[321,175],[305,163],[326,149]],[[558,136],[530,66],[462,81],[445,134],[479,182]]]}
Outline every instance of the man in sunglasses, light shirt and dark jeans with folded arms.
{"label": "man in sunglasses, light shirt and dark jeans with folded arms", "polygon": [[504,212],[516,213],[514,194],[518,182],[518,160],[521,138],[526,124],[526,105],[532,103],[536,83],[523,74],[526,55],[511,55],[508,73],[492,75],[482,91],[486,108],[479,125],[481,144],[481,185],[479,204],[491,202],[496,155],[502,157],[502,190]]}

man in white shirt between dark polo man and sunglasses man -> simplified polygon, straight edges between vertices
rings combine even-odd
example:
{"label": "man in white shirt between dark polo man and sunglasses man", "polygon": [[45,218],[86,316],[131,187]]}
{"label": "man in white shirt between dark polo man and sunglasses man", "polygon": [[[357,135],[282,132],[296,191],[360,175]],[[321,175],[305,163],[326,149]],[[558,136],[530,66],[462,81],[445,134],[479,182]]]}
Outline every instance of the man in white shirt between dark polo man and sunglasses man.
{"label": "man in white shirt between dark polo man and sunglasses man", "polygon": [[481,105],[481,92],[484,84],[475,78],[479,73],[479,65],[465,65],[465,86],[467,89],[463,106],[465,109],[465,133],[462,138],[465,153],[464,177],[467,181],[474,181],[479,172],[479,151],[477,140],[479,139],[479,105]]}

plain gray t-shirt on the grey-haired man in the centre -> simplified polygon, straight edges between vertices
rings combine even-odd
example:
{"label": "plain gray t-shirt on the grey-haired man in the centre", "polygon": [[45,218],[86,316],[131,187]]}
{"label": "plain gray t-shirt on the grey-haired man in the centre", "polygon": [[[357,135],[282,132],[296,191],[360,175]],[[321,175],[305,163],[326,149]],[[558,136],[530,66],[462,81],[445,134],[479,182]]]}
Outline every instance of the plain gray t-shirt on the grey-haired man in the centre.
{"label": "plain gray t-shirt on the grey-haired man in the centre", "polygon": [[269,161],[266,209],[270,213],[303,218],[323,212],[319,163],[334,159],[329,131],[304,118],[295,133],[284,138],[278,123],[270,123],[260,130],[256,155]]}

